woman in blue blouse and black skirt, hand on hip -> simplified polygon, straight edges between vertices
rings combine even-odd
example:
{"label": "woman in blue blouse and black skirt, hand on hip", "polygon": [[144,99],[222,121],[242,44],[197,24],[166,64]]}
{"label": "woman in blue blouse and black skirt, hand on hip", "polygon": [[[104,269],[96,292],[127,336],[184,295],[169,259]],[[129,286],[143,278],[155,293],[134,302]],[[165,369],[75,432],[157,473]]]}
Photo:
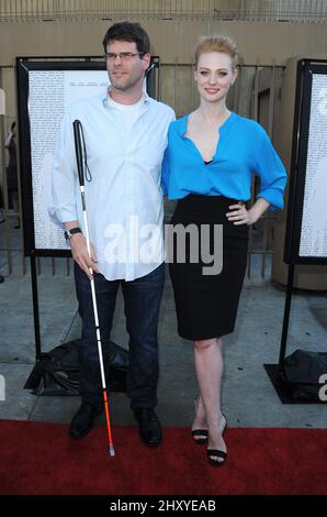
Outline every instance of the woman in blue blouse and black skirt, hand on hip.
{"label": "woman in blue blouse and black skirt, hand on hip", "polygon": [[[248,226],[268,209],[283,208],[285,169],[266,131],[257,122],[239,117],[226,107],[226,96],[237,78],[237,48],[226,36],[206,36],[195,48],[194,78],[200,107],[171,123],[162,166],[164,190],[178,199],[171,220],[173,228],[194,224],[203,248],[215,252],[214,229],[223,226],[222,271],[204,274],[206,261],[194,262],[194,242],[177,239],[187,258],[170,264],[178,330],[194,342],[199,383],[192,435],[207,443],[211,465],[222,465],[227,457],[221,410],[223,374],[222,337],[233,332],[247,262]],[[251,208],[251,177],[261,189]],[[203,224],[210,228],[206,245]],[[190,228],[190,227],[189,227]],[[176,251],[176,250],[174,250]]]}

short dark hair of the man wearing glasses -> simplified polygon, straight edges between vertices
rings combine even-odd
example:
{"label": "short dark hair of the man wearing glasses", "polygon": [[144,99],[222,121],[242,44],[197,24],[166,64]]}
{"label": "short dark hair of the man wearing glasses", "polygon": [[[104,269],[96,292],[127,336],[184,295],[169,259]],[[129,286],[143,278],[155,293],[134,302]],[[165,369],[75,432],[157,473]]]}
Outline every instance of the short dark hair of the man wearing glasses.
{"label": "short dark hair of the man wearing glasses", "polygon": [[108,44],[113,41],[134,42],[137,52],[143,54],[150,52],[149,36],[139,23],[119,22],[111,25],[102,42],[104,52],[106,52]]}

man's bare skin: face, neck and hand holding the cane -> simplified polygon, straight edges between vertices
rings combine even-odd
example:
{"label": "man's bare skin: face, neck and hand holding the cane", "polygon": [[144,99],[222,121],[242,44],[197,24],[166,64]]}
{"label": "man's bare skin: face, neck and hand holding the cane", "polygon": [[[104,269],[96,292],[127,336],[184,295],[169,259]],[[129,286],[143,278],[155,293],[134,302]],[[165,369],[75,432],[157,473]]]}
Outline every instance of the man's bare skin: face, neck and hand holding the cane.
{"label": "man's bare skin: face, neck and hand holding the cane", "polygon": [[[106,52],[132,52],[137,54],[135,42],[112,41],[108,44]],[[135,55],[122,61],[120,56],[106,59],[106,72],[111,80],[110,96],[121,105],[134,105],[139,101],[143,90],[144,75],[150,64],[150,55]],[[68,221],[65,228],[71,229],[79,226],[78,221]],[[91,244],[91,256],[87,248],[87,240],[82,233],[76,233],[70,238],[72,258],[80,268],[92,279],[92,273],[99,273],[97,267],[97,252]]]}

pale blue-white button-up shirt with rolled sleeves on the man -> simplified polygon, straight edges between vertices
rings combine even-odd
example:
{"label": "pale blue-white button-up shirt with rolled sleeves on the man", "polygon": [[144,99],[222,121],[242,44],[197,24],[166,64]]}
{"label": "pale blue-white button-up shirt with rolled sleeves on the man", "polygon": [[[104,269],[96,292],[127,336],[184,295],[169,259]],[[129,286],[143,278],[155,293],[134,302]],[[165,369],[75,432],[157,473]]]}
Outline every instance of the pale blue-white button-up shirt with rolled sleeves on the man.
{"label": "pale blue-white button-up shirt with rolled sleeves on the man", "polygon": [[90,241],[110,280],[133,280],[165,260],[161,163],[174,112],[146,94],[132,106],[101,95],[74,102],[53,163],[52,219],[84,232],[72,122],[80,120],[91,182],[84,182]]}

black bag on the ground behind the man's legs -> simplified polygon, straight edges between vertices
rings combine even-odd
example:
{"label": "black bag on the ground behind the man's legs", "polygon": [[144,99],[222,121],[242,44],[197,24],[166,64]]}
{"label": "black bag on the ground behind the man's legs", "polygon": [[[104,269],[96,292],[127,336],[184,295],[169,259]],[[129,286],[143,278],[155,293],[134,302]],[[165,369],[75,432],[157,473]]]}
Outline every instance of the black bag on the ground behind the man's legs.
{"label": "black bag on the ground behind the man's legs", "polygon": [[[24,387],[34,395],[79,395],[79,343],[77,339],[43,353]],[[126,392],[128,351],[109,341],[102,343],[102,353],[109,391]]]}

